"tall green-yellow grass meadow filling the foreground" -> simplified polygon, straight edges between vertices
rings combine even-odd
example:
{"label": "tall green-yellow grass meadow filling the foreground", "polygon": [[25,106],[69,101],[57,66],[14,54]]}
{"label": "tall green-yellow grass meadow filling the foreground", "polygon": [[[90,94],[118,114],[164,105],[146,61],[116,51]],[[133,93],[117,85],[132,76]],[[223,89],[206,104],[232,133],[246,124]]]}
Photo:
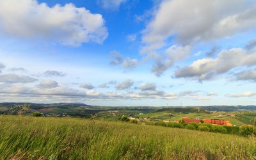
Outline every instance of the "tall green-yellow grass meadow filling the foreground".
{"label": "tall green-yellow grass meadow filling the foreground", "polygon": [[240,136],[77,118],[0,116],[1,159],[253,159]]}

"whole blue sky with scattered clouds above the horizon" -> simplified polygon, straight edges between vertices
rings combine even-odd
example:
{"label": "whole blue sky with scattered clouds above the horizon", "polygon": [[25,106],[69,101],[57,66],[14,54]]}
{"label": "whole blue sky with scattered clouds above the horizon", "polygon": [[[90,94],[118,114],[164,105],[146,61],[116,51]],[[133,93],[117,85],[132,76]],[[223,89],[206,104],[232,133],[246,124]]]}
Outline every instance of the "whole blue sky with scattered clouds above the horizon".
{"label": "whole blue sky with scattered clouds above the horizon", "polygon": [[255,98],[254,0],[0,0],[0,102]]}

